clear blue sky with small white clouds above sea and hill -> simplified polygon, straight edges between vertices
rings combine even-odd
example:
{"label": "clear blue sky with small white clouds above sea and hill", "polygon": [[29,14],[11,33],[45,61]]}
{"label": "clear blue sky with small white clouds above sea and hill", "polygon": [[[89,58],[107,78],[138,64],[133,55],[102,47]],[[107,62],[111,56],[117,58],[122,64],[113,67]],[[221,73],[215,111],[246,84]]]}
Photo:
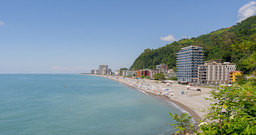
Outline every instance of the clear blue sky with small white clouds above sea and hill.
{"label": "clear blue sky with small white clouds above sea and hill", "polygon": [[0,74],[129,68],[146,48],[255,15],[255,1],[2,1]]}

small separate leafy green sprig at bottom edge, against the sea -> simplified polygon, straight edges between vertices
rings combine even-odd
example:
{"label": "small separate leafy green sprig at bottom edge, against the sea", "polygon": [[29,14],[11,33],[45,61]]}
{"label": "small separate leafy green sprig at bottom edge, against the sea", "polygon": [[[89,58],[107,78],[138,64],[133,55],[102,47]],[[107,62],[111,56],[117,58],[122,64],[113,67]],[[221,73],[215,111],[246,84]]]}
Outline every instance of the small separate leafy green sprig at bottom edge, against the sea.
{"label": "small separate leafy green sprig at bottom edge, against the sea", "polygon": [[176,133],[179,132],[183,132],[183,134],[186,134],[187,132],[194,130],[194,126],[193,124],[191,124],[189,122],[189,119],[192,118],[192,116],[189,116],[189,114],[187,113],[182,113],[180,116],[177,114],[171,114],[169,113],[169,115],[177,122],[177,124],[169,124],[167,123],[167,125],[172,125],[175,128],[178,129],[178,131]]}

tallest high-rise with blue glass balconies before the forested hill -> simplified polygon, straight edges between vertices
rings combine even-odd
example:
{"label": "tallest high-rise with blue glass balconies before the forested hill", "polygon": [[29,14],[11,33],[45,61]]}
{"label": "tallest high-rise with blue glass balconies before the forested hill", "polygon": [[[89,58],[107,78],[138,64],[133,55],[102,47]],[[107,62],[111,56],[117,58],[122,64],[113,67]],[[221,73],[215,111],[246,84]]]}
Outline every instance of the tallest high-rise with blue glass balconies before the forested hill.
{"label": "tallest high-rise with blue glass balconies before the forested hill", "polygon": [[203,48],[199,46],[190,46],[181,48],[176,53],[176,66],[178,82],[197,82],[198,65],[203,64]]}

